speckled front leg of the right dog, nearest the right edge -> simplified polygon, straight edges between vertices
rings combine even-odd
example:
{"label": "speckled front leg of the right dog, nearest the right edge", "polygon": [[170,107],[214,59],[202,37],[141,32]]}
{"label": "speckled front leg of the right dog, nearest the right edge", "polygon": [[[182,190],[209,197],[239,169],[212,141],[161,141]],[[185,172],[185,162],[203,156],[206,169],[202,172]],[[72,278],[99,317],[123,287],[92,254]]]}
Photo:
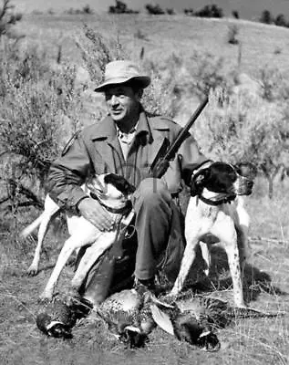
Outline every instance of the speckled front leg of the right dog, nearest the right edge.
{"label": "speckled front leg of the right dog, nearest the right edge", "polygon": [[216,235],[223,243],[232,276],[233,297],[235,306],[238,308],[246,307],[243,299],[243,281],[240,267],[240,255],[237,243],[237,233],[232,219],[222,217],[212,227],[212,234]]}

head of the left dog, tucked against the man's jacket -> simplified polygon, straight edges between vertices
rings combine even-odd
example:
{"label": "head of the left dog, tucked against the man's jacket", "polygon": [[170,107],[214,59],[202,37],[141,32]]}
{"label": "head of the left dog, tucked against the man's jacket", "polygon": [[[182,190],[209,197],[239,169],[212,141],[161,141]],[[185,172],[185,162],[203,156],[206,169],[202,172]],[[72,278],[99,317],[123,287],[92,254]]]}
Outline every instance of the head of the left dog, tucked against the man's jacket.
{"label": "head of the left dog, tucked against the man's jacket", "polygon": [[91,176],[88,178],[87,187],[90,193],[102,200],[127,200],[135,191],[133,185],[116,173]]}

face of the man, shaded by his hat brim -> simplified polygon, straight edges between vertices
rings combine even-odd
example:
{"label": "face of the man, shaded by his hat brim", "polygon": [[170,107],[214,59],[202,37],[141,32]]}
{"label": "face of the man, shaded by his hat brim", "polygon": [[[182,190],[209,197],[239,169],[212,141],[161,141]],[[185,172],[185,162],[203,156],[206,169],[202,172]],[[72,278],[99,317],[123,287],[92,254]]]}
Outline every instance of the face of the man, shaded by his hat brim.
{"label": "face of the man, shaded by his hat brim", "polygon": [[126,123],[139,112],[139,92],[125,85],[112,85],[105,90],[108,111],[117,123]]}

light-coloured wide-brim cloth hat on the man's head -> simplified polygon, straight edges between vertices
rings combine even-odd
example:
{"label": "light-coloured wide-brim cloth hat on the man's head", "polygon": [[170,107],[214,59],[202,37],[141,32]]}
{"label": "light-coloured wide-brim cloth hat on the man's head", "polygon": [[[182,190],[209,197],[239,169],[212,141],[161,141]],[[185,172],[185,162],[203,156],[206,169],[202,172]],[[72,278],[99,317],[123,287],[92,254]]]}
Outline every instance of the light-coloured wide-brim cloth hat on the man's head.
{"label": "light-coloured wide-brim cloth hat on the man's head", "polygon": [[109,62],[105,68],[103,82],[98,85],[97,92],[103,92],[109,85],[123,84],[128,81],[136,81],[141,89],[150,85],[150,77],[139,71],[138,65],[128,60]]}

